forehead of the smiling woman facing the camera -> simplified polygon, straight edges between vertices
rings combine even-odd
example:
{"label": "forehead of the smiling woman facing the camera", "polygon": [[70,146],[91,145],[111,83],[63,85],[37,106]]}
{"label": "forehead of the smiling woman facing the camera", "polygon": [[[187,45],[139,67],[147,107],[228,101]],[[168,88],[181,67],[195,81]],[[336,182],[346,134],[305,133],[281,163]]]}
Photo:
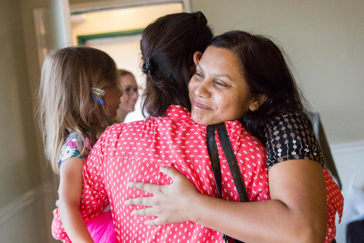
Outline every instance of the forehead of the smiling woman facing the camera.
{"label": "forehead of the smiling woman facing the camera", "polygon": [[241,76],[241,61],[232,51],[221,47],[209,46],[203,53],[199,65],[216,74]]}

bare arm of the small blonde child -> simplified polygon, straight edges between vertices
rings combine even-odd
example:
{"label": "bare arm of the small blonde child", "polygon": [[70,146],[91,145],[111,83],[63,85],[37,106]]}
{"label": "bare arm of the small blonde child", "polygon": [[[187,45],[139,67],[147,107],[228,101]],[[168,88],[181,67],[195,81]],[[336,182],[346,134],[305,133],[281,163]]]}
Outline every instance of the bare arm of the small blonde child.
{"label": "bare arm of the small blonde child", "polygon": [[83,164],[82,159],[72,157],[63,161],[59,168],[59,216],[73,243],[94,243],[79,209],[83,189]]}

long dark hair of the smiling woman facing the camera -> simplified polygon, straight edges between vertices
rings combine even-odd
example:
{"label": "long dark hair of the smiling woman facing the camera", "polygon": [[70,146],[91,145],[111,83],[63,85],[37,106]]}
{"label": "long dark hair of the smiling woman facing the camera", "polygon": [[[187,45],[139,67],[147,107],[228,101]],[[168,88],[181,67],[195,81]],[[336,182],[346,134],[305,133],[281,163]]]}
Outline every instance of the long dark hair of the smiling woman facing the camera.
{"label": "long dark hair of the smiling woman facing the camera", "polygon": [[270,118],[288,112],[300,113],[308,119],[302,105],[305,99],[282,51],[272,40],[244,31],[229,31],[216,36],[211,46],[226,48],[241,60],[240,68],[248,84],[250,97],[267,97],[258,110],[249,110],[240,119],[248,132],[266,142],[264,128]]}

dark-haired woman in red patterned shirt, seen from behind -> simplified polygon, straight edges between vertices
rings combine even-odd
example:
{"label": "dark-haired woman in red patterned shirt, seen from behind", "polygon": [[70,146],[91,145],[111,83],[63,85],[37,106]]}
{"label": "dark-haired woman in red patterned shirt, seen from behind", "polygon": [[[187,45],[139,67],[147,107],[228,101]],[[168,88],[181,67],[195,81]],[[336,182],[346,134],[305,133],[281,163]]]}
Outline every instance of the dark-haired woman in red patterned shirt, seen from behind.
{"label": "dark-haired woman in red patterned shirt, seen from behind", "polygon": [[[143,111],[148,119],[114,124],[106,129],[83,168],[84,189],[80,211],[85,221],[97,217],[109,203],[114,220],[116,242],[214,242],[221,233],[195,222],[150,227],[124,202],[140,194],[127,188],[127,181],[138,180],[168,185],[172,180],[162,166],[177,169],[204,195],[218,196],[211,180],[211,163],[205,149],[206,126],[192,121],[188,82],[195,72],[193,54],[202,53],[213,35],[201,12],[166,15],[151,23],[142,34],[141,51],[146,89]],[[187,108],[185,108],[186,106]],[[240,110],[238,107],[237,111]],[[248,200],[270,199],[264,146],[239,122],[226,122],[234,152],[246,168],[244,177]],[[217,135],[215,139],[219,141]],[[219,155],[224,156],[218,145]],[[226,200],[238,201],[228,168],[222,167]],[[176,181],[174,181],[176,183]],[[187,189],[187,188],[186,188]],[[147,197],[144,197],[147,198]],[[143,198],[142,200],[143,201]],[[62,234],[60,228],[60,234]]]}

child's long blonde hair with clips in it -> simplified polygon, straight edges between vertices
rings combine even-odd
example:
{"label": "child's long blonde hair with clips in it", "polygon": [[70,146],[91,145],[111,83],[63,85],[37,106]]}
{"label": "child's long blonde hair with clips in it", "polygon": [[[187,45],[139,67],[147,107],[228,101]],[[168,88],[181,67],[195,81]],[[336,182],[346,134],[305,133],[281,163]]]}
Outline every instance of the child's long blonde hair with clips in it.
{"label": "child's long blonde hair with clips in it", "polygon": [[[117,122],[92,98],[92,88],[120,86],[114,60],[91,47],[51,51],[44,61],[38,113],[47,159],[59,174],[58,157],[66,137],[94,136]],[[82,151],[84,148],[79,148]]]}

